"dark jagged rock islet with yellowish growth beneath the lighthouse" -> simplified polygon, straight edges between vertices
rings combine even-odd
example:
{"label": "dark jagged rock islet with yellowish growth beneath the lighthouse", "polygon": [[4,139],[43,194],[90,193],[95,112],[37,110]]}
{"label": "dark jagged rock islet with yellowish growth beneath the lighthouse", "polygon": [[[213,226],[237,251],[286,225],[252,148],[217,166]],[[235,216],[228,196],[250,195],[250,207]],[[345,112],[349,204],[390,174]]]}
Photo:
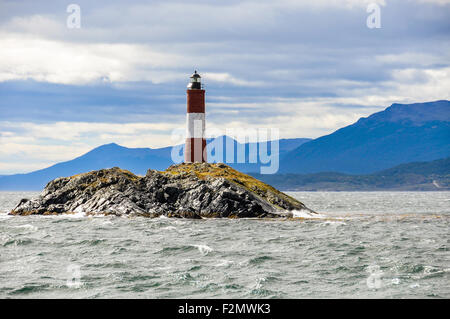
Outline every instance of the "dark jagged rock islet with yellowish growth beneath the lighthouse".
{"label": "dark jagged rock islet with yellowish growth beneath the lighthouse", "polygon": [[290,217],[311,210],[225,164],[178,164],[144,177],[120,168],[57,178],[12,215],[86,213],[146,217]]}

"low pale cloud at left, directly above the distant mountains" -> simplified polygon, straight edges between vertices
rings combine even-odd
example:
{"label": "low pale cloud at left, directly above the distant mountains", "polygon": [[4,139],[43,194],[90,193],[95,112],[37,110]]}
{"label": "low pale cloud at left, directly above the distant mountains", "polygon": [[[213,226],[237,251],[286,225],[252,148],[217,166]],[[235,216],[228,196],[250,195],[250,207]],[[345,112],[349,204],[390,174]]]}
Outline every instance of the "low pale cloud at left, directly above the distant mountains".
{"label": "low pale cloud at left, directly above the distant mountains", "polygon": [[0,121],[0,174],[48,167],[112,142],[128,147],[168,146],[172,130],[183,124]]}

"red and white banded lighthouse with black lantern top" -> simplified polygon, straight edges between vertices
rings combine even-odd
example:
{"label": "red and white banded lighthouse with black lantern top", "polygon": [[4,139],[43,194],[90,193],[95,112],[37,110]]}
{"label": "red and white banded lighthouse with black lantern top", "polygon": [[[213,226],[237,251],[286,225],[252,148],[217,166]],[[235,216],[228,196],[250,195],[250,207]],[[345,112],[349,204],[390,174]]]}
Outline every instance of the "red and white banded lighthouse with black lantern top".
{"label": "red and white banded lighthouse with black lantern top", "polygon": [[205,140],[205,90],[202,89],[201,76],[194,72],[187,86],[186,163],[206,162]]}

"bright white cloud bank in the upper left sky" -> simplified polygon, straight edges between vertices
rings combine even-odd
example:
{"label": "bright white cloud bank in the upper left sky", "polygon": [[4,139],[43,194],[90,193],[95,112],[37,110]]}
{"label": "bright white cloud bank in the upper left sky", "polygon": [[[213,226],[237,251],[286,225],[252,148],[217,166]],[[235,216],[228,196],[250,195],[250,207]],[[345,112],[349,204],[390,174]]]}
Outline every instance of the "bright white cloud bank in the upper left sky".
{"label": "bright white cloud bank in the upper left sky", "polygon": [[[145,45],[64,43],[22,34],[0,36],[0,81],[162,83],[181,76],[170,71],[181,63],[181,56],[157,52]],[[161,67],[169,70],[158,72]]]}

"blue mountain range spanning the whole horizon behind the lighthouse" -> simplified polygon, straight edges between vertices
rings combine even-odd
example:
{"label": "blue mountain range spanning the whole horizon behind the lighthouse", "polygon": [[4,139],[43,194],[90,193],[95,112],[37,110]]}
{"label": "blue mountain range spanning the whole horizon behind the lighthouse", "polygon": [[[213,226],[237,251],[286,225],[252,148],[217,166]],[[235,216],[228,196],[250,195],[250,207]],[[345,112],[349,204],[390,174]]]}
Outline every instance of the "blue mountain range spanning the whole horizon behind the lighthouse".
{"label": "blue mountain range spanning the whole horizon behind the lighthouse", "polygon": [[[255,146],[259,150],[260,144],[240,144],[230,137],[218,137],[220,138],[223,139],[224,159],[227,141],[234,145],[235,161],[230,164],[233,168],[257,175],[260,168],[267,165],[261,163],[259,158],[256,163],[248,163],[249,149]],[[212,145],[211,142],[212,140],[208,140],[208,147]],[[384,172],[382,176],[398,177],[399,175],[394,174],[396,169],[402,168],[398,165],[449,157],[449,142],[450,101],[392,104],[384,111],[360,118],[354,124],[314,140],[308,138],[279,140],[279,173],[283,175],[261,178],[279,183],[282,181],[280,176],[284,176],[286,186],[293,178],[306,183],[305,176],[318,180],[335,176],[335,183],[338,180],[349,179],[349,174],[366,176]],[[246,150],[245,163],[236,163],[237,149],[240,146]],[[176,147],[178,151],[183,152],[182,145]],[[106,144],[73,160],[48,168],[27,174],[0,176],[0,190],[40,190],[57,177],[115,166],[144,175],[149,168],[164,170],[173,164],[171,152],[172,147],[127,148],[115,143]],[[448,162],[436,163],[433,165],[443,165],[448,172]],[[387,170],[389,168],[394,171]],[[413,165],[413,169],[419,168],[420,164]],[[379,173],[374,176],[378,176]],[[369,180],[375,181],[370,178]],[[301,188],[298,183],[294,184],[297,189]],[[286,187],[281,185],[281,188]],[[327,186],[328,188],[331,189],[332,186]]]}

